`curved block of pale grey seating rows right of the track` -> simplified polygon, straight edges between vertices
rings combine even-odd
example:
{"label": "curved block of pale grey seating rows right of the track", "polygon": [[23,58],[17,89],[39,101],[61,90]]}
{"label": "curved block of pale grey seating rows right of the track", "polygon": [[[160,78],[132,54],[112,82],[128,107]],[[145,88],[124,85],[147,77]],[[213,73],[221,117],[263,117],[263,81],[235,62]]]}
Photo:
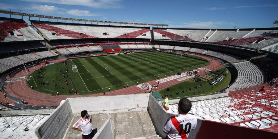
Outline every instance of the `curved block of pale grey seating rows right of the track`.
{"label": "curved block of pale grey seating rows right of the track", "polygon": [[225,91],[234,91],[262,84],[263,72],[255,64],[245,61],[233,64],[238,70],[236,81]]}

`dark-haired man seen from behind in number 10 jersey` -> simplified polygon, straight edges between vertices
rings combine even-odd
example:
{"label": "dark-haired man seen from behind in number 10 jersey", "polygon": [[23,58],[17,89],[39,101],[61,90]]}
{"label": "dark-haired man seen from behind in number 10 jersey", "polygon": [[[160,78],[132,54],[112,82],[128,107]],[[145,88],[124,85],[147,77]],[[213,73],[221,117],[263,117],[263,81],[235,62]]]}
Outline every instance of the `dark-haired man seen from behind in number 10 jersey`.
{"label": "dark-haired man seen from behind in number 10 jersey", "polygon": [[171,116],[164,125],[163,132],[167,134],[166,139],[186,139],[189,132],[196,128],[197,118],[189,114],[191,102],[187,98],[179,100],[178,115]]}

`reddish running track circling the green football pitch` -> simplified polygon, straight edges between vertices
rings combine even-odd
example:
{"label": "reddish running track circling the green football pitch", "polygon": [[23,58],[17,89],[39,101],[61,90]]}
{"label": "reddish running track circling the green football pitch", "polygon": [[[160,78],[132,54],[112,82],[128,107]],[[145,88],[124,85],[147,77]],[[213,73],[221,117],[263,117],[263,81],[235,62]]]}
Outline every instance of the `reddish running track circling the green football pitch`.
{"label": "reddish running track circling the green football pitch", "polygon": [[[205,67],[202,68],[206,68],[209,70],[218,70],[222,67],[222,65],[213,59],[210,59],[208,57],[204,57],[201,55],[196,55],[199,57],[203,57],[207,60],[212,60],[211,63]],[[60,59],[61,61],[65,60],[65,59]],[[57,63],[59,62],[59,60],[53,60],[53,61],[49,61],[49,62],[53,62],[53,63]],[[41,65],[36,65],[35,68],[39,69],[41,67]],[[34,67],[30,67],[29,68],[30,72],[34,72]],[[24,71],[25,72],[25,71]],[[25,72],[26,74],[26,72]],[[173,73],[174,74],[174,73]],[[199,75],[203,75],[205,74],[204,70],[198,70],[198,74]],[[23,72],[18,72],[17,74],[15,74],[15,76],[13,78],[19,78],[19,77],[23,77]],[[191,78],[193,78],[194,76],[192,76]],[[9,79],[12,80],[13,78]],[[180,77],[183,78],[183,77]],[[191,79],[189,78],[189,79]],[[160,78],[161,79],[161,78]],[[178,78],[177,78],[178,79]],[[187,80],[189,80],[187,79]],[[186,81],[186,80],[184,80]],[[182,81],[183,82],[183,81]],[[147,82],[150,85],[154,85],[157,82],[155,82],[155,80]],[[157,90],[161,90],[164,89],[166,87],[175,85],[180,83],[179,81],[175,80],[171,80],[168,82],[163,82],[160,83],[158,86]],[[124,86],[124,85],[123,85]],[[17,82],[12,82],[12,83],[6,83],[5,85],[6,88],[6,92],[9,95],[24,99],[28,102],[29,105],[37,105],[37,106],[59,106],[61,100],[65,100],[66,98],[76,98],[76,97],[91,97],[91,96],[103,96],[103,93],[99,93],[99,94],[90,94],[90,95],[58,95],[58,96],[51,96],[50,94],[45,94],[45,93],[41,93],[41,92],[37,92],[35,90],[30,89],[26,84],[24,79],[17,81]],[[106,92],[106,95],[127,95],[127,94],[139,94],[139,93],[145,93],[145,90],[137,87],[136,85],[134,86],[129,86],[128,88],[123,88],[123,89],[119,89],[119,90],[115,90],[115,91],[110,91],[110,92]],[[3,99],[3,95],[1,95],[0,100],[2,102],[6,102],[6,103],[11,103],[14,104],[15,102],[11,99],[7,99],[4,98]]]}

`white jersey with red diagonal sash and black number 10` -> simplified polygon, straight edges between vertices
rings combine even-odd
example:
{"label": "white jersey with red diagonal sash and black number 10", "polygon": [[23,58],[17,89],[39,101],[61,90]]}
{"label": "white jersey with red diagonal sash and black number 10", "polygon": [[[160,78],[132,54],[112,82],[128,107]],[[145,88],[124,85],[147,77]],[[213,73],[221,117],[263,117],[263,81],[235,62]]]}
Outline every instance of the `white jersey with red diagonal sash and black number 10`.
{"label": "white jersey with red diagonal sash and black number 10", "polygon": [[194,114],[178,114],[166,121],[163,131],[170,139],[186,139],[189,132],[196,128],[197,118]]}

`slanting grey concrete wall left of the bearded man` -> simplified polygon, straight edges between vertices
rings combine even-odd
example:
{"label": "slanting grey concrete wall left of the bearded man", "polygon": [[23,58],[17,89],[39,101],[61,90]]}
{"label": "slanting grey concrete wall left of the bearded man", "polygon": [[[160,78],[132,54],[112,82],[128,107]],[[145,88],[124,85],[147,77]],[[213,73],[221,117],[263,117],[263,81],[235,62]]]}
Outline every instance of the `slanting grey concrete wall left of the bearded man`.
{"label": "slanting grey concrete wall left of the bearded man", "polygon": [[73,118],[70,101],[60,105],[48,118],[35,130],[39,139],[61,139]]}

